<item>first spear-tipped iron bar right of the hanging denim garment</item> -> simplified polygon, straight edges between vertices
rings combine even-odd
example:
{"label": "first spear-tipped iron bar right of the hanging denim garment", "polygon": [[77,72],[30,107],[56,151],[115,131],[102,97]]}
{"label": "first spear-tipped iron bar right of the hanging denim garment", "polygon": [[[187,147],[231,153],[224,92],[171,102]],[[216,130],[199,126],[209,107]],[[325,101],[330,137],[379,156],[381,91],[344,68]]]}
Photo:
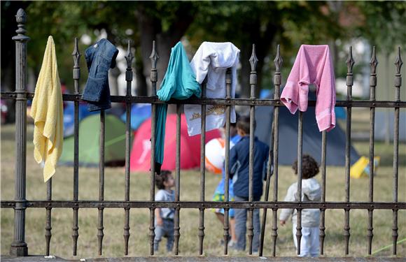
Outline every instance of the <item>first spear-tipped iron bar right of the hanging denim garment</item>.
{"label": "first spear-tipped iron bar right of the hanging denim garment", "polygon": [[[127,46],[127,70],[125,71],[125,81],[127,82],[127,92],[125,103],[125,194],[124,200],[130,201],[130,149],[131,149],[131,84],[132,84],[132,59],[134,56],[131,52],[130,40]],[[128,254],[128,240],[130,239],[130,208],[124,208],[124,254]]]}

